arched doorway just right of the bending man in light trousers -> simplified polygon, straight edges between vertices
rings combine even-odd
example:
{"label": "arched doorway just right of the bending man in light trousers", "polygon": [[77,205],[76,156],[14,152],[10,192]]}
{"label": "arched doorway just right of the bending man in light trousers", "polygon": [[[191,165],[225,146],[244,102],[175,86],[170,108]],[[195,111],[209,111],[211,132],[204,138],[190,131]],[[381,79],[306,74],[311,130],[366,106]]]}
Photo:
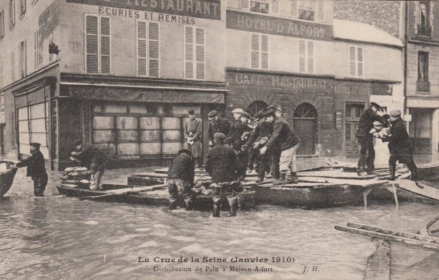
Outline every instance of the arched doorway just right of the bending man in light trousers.
{"label": "arched doorway just right of the bending man in light trousers", "polygon": [[317,110],[309,103],[297,106],[293,114],[294,130],[300,138],[298,155],[313,155],[316,153],[318,141]]}

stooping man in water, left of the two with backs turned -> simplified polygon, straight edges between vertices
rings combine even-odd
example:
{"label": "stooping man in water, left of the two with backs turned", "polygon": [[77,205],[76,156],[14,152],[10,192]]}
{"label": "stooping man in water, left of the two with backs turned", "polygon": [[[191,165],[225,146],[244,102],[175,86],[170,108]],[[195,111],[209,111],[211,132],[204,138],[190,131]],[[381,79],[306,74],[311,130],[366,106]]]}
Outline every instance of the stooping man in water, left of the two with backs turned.
{"label": "stooping man in water, left of the two with backs turned", "polygon": [[195,176],[195,165],[192,160],[192,153],[182,149],[174,158],[167,172],[167,188],[169,191],[169,210],[176,209],[178,195],[181,194],[185,200],[186,210],[191,209],[193,177]]}

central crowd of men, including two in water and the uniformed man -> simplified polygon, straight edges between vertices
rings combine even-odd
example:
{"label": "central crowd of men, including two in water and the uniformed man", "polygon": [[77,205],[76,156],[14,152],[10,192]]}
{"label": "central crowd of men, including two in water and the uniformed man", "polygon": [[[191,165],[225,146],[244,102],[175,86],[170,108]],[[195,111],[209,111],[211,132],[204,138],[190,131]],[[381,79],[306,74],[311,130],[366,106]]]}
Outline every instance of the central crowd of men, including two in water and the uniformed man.
{"label": "central crowd of men, including two in water and the uniformed man", "polygon": [[[213,216],[218,217],[222,201],[230,205],[230,216],[235,216],[243,192],[241,181],[247,168],[257,162],[257,183],[262,183],[265,173],[275,177],[274,184],[298,183],[296,151],[300,139],[285,120],[284,107],[268,107],[254,116],[237,108],[233,110],[233,123],[209,112],[209,151],[204,168],[212,177]],[[188,149],[182,149],[168,171],[169,209],[176,208],[178,194],[182,194],[186,209],[191,209],[194,164],[201,168],[201,123],[189,110],[189,122],[185,125]],[[287,172],[292,179],[288,180]]]}

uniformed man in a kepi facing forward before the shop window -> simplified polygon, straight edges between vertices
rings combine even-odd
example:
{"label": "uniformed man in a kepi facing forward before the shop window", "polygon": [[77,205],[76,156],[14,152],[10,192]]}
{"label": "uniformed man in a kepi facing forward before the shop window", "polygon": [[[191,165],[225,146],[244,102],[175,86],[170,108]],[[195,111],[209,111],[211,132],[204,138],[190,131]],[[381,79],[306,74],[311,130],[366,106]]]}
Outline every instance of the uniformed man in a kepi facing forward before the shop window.
{"label": "uniformed man in a kepi facing forward before the shop window", "polygon": [[202,143],[201,133],[202,125],[201,121],[195,118],[195,111],[189,110],[189,120],[185,124],[185,134],[187,136],[187,149],[191,151],[193,159],[198,164],[198,168],[202,169]]}

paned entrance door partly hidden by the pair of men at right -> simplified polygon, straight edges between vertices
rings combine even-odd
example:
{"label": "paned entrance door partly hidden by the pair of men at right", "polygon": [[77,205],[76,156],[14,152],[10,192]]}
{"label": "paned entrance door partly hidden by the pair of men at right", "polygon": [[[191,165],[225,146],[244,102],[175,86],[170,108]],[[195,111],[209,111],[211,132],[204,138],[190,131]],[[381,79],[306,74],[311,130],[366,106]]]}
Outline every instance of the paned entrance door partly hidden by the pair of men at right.
{"label": "paned entrance door partly hidden by the pair of men at right", "polygon": [[355,138],[359,118],[364,112],[364,104],[346,103],[345,126],[344,126],[344,150],[346,157],[358,157],[358,142]]}

